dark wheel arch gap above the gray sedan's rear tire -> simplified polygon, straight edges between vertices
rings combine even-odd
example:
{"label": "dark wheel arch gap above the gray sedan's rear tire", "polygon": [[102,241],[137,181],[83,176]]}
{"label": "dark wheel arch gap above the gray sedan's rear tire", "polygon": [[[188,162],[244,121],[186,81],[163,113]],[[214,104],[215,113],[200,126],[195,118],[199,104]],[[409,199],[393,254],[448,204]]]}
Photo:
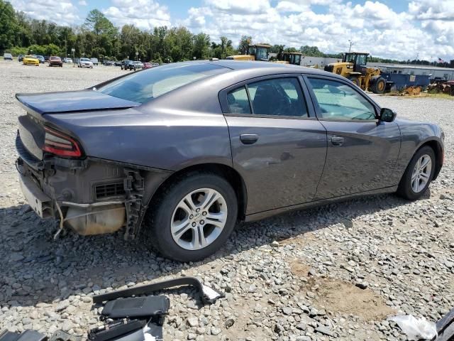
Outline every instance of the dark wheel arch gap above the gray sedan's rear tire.
{"label": "dark wheel arch gap above the gray sedan's rear tire", "polygon": [[238,198],[238,218],[240,220],[245,219],[245,212],[248,203],[248,193],[246,190],[246,185],[243,180],[243,177],[238,173],[234,168],[226,166],[222,163],[199,163],[192,166],[187,166],[185,168],[172,173],[167,177],[154,191],[153,195],[150,196],[148,202],[148,207],[153,209],[153,200],[156,200],[159,195],[165,190],[165,188],[172,182],[181,180],[190,173],[212,173],[214,175],[219,175],[222,178],[225,178],[228,183],[231,184],[233,190],[235,190],[236,196]]}

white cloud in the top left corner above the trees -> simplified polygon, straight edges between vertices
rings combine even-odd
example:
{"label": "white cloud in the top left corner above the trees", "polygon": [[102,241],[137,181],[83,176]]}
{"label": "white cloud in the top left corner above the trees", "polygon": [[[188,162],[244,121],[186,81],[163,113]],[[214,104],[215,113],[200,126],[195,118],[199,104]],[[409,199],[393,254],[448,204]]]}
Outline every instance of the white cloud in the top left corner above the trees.
{"label": "white cloud in the top left corner above the trees", "polygon": [[23,11],[31,18],[54,21],[60,25],[73,25],[80,21],[79,10],[70,0],[43,1],[31,6],[30,1],[10,0],[16,11]]}

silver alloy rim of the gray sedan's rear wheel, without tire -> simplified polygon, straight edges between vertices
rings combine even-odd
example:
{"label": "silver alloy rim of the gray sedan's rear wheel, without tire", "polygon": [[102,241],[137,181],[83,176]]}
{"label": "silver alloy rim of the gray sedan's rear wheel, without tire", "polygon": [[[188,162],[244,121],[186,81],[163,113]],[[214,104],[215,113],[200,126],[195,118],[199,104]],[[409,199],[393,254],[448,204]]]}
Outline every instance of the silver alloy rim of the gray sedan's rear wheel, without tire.
{"label": "silver alloy rim of the gray sedan's rear wheel, without tire", "polygon": [[187,250],[199,250],[214,242],[227,221],[227,204],[221,193],[200,188],[179,201],[172,214],[173,240]]}

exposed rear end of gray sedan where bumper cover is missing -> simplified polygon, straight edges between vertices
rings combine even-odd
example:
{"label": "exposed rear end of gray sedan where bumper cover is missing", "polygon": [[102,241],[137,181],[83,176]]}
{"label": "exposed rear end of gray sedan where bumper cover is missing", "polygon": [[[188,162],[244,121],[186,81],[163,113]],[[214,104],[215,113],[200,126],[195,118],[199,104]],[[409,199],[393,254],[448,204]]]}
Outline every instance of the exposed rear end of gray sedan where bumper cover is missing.
{"label": "exposed rear end of gray sedan where bumper cover is missing", "polygon": [[134,238],[151,196],[172,173],[97,158],[40,161],[18,147],[16,143],[19,182],[31,208],[82,235],[125,227],[125,239]]}

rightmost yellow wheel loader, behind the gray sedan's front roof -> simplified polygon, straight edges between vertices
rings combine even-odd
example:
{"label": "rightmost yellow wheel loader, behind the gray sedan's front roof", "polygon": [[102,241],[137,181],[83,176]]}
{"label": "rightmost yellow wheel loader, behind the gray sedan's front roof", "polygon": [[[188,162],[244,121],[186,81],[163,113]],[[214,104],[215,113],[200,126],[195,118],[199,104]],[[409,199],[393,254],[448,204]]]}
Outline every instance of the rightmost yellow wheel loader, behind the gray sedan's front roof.
{"label": "rightmost yellow wheel loader, behind the gray sedan's front roof", "polygon": [[342,62],[325,66],[325,71],[336,73],[354,82],[362,90],[370,90],[382,94],[387,88],[387,81],[381,76],[377,67],[367,67],[369,53],[347,52],[343,54]]}

